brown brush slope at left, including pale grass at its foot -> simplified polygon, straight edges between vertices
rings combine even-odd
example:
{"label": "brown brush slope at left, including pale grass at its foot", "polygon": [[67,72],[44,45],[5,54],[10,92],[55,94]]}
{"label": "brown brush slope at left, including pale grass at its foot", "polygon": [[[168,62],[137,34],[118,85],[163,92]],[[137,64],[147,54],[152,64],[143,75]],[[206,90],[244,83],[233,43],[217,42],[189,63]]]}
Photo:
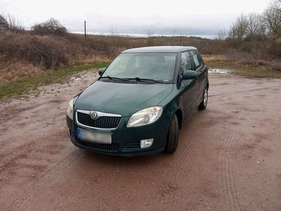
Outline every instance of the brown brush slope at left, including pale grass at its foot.
{"label": "brown brush slope at left, including pale grass at its foot", "polygon": [[46,70],[63,67],[107,63],[112,58],[107,51],[117,54],[119,48],[109,44],[84,41],[77,35],[68,37],[34,35],[0,30],[0,84],[18,82]]}

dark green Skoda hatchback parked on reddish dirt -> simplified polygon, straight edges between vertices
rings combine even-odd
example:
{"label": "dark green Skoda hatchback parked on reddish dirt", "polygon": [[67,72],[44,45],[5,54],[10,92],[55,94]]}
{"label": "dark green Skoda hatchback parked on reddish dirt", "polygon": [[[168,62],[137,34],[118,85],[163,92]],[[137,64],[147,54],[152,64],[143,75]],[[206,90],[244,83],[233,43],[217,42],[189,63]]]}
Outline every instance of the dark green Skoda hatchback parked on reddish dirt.
{"label": "dark green Skoda hatchback parked on reddish dirt", "polygon": [[174,153],[183,124],[207,106],[207,65],[194,47],[129,49],[99,75],[67,108],[70,140],[85,150]]}

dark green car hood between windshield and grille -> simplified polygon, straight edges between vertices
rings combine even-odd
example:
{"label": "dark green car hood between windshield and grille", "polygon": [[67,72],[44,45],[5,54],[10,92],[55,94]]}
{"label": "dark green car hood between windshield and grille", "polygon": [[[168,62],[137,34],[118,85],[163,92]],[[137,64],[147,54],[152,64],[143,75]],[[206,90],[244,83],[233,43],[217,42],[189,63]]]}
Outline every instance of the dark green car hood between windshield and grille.
{"label": "dark green car hood between windshield and grille", "polygon": [[127,117],[157,106],[173,90],[173,84],[123,84],[97,81],[85,89],[74,105],[77,110],[95,110]]}

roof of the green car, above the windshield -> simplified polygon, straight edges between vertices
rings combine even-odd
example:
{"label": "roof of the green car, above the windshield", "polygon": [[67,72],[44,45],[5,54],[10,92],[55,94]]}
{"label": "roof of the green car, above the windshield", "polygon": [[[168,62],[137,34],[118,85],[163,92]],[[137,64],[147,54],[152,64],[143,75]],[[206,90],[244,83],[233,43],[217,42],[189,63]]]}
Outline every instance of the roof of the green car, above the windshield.
{"label": "roof of the green car, above the windshield", "polygon": [[178,53],[188,50],[196,50],[192,46],[151,46],[136,49],[128,49],[122,53]]}

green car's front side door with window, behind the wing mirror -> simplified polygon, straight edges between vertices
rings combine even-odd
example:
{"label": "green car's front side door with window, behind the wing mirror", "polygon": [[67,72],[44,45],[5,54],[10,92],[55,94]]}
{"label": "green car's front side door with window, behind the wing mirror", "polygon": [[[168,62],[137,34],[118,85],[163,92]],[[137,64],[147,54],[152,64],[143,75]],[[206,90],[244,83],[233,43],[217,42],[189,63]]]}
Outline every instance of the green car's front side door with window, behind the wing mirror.
{"label": "green car's front side door with window, behind the wing mirror", "polygon": [[[186,70],[194,70],[193,62],[188,51],[181,53],[181,74]],[[188,117],[195,112],[194,105],[197,104],[197,92],[198,87],[196,79],[181,80],[184,121],[188,120]]]}

